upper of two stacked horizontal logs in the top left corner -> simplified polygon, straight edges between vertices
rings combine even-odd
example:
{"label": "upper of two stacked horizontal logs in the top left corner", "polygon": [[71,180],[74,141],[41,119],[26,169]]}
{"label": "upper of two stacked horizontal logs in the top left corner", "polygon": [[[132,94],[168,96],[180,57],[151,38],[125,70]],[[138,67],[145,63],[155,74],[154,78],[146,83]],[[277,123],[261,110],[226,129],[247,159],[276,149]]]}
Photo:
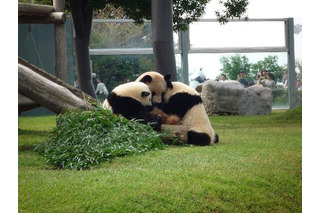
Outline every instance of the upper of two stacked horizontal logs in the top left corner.
{"label": "upper of two stacked horizontal logs in the top left corner", "polygon": [[20,15],[42,15],[46,16],[54,12],[53,6],[41,4],[18,3],[18,16]]}

